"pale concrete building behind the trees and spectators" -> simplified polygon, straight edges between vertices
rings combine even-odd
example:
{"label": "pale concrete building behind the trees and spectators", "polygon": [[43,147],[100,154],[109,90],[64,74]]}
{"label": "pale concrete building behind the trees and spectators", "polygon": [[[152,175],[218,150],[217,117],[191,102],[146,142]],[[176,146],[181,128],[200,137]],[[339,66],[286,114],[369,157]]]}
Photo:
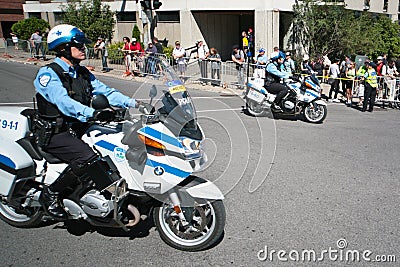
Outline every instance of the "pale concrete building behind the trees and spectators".
{"label": "pale concrete building behind the trees and spectators", "polygon": [[[5,0],[0,0],[5,1]],[[160,0],[157,10],[158,23],[155,36],[166,38],[172,45],[176,40],[183,47],[191,47],[197,40],[204,40],[209,47],[215,47],[223,59],[230,58],[234,44],[241,44],[241,32],[253,28],[255,48],[264,47],[267,54],[274,46],[283,50],[294,50],[290,43],[295,0]],[[67,0],[25,1],[25,18],[36,16],[47,20],[51,26],[60,24],[61,5]],[[132,28],[137,24],[143,33],[146,16],[140,1],[103,1],[116,12],[116,26],[113,41],[123,36],[132,36]],[[396,0],[344,0],[345,7],[353,10],[368,10],[383,13],[393,20],[398,19],[399,3]],[[144,24],[143,24],[144,23]],[[143,36],[142,41],[147,41]]]}

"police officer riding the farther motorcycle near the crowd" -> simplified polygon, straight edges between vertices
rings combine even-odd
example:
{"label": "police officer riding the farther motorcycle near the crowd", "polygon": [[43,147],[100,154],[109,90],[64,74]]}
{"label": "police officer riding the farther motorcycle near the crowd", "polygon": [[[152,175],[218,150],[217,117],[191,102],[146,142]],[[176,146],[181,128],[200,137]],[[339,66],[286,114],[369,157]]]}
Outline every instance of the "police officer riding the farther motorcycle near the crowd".
{"label": "police officer riding the farther motorcycle near the crowd", "polygon": [[280,83],[281,79],[289,78],[289,74],[282,69],[285,54],[279,52],[278,55],[271,58],[271,62],[265,68],[265,89],[272,94],[276,94],[276,98],[271,108],[274,111],[282,112],[280,103],[282,98],[288,93],[288,88]]}

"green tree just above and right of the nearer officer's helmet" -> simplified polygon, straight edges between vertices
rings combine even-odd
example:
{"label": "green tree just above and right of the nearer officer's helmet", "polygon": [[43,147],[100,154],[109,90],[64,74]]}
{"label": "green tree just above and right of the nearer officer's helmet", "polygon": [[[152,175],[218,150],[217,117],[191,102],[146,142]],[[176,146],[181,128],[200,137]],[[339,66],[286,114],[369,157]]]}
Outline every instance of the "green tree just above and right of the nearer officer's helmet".
{"label": "green tree just above and right of the nearer officer's helmet", "polygon": [[109,5],[102,5],[101,0],[74,0],[62,7],[64,23],[80,28],[91,40],[97,37],[111,40],[115,25],[114,12]]}

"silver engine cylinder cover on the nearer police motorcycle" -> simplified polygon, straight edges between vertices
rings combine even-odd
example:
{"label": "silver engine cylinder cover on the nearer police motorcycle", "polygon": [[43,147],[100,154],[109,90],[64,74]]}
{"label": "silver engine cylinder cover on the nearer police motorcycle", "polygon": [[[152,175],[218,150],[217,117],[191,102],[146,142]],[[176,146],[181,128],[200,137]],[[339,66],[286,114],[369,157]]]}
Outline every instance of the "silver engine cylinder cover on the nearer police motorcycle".
{"label": "silver engine cylinder cover on the nearer police motorcycle", "polygon": [[114,209],[111,200],[106,199],[98,190],[90,190],[81,199],[82,209],[86,214],[106,217]]}

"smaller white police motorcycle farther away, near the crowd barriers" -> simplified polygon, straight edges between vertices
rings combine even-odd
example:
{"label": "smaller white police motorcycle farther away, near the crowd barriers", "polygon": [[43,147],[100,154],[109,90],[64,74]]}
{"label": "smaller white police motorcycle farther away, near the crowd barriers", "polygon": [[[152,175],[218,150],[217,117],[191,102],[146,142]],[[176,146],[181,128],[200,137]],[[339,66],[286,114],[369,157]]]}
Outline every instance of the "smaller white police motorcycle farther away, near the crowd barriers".
{"label": "smaller white police motorcycle farther away, near the crowd barriers", "polygon": [[[321,99],[321,85],[318,78],[312,74],[302,76],[298,80],[285,81],[289,91],[282,99],[280,107],[282,114],[303,115],[311,123],[322,123],[327,115],[326,103]],[[266,116],[276,95],[264,88],[263,78],[248,78],[246,88],[246,107],[248,112],[256,117]]]}

